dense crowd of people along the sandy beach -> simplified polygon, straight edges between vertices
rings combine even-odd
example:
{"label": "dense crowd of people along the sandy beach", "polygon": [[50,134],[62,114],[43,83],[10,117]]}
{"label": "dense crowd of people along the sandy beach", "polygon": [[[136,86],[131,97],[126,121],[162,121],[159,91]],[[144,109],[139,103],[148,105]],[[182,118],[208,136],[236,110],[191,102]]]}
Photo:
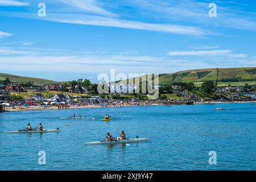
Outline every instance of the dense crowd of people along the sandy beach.
{"label": "dense crowd of people along the sandy beach", "polygon": [[[241,102],[241,101],[240,101]],[[242,101],[248,102],[248,101]],[[219,104],[230,103],[230,101],[188,101],[188,100],[147,100],[147,101],[133,101],[133,100],[109,100],[99,102],[88,102],[84,100],[79,101],[61,101],[61,102],[43,102],[43,101],[2,101],[3,110],[45,110],[45,109],[73,109],[73,108],[93,108],[93,107],[126,107],[126,106],[148,106],[148,105],[193,105],[193,104]]]}

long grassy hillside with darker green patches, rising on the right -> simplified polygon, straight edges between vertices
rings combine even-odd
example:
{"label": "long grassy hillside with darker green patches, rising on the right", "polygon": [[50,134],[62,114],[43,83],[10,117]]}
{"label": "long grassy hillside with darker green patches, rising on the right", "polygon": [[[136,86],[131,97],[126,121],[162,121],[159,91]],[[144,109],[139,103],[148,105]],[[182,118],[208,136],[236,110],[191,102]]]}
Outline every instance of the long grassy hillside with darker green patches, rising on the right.
{"label": "long grassy hillside with darker green patches, rising on the right", "polygon": [[[145,76],[141,76],[145,77]],[[138,77],[137,77],[138,78]],[[209,69],[192,69],[176,73],[164,73],[159,75],[159,84],[167,84],[174,82],[203,82],[203,81],[220,81],[224,80],[233,82],[232,79],[238,82],[256,81],[256,68],[209,68]],[[130,78],[129,81],[132,81]]]}

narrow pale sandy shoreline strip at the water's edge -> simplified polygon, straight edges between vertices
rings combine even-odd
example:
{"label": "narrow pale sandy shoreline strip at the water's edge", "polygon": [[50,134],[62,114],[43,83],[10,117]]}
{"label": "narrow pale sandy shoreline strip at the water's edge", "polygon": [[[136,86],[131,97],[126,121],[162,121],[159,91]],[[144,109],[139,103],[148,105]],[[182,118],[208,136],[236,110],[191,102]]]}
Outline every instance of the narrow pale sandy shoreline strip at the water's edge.
{"label": "narrow pale sandy shoreline strip at the water's edge", "polygon": [[[198,104],[250,104],[250,103],[256,103],[256,101],[235,101],[235,102],[216,102],[216,101],[212,101],[212,102],[195,102],[193,105],[198,105]],[[164,104],[144,104],[144,105],[118,105],[118,106],[113,106],[113,105],[109,105],[109,106],[100,106],[100,105],[86,105],[86,106],[71,106],[69,107],[69,109],[84,109],[84,108],[89,108],[89,109],[94,109],[94,108],[107,108],[107,107],[133,107],[133,106],[161,106]],[[172,106],[175,105],[185,105],[185,104],[174,104]],[[68,109],[59,109],[57,106],[51,106],[51,107],[45,107],[45,106],[28,106],[27,108],[6,108],[5,111],[11,111],[11,112],[15,112],[15,111],[36,111],[36,110],[68,110]]]}

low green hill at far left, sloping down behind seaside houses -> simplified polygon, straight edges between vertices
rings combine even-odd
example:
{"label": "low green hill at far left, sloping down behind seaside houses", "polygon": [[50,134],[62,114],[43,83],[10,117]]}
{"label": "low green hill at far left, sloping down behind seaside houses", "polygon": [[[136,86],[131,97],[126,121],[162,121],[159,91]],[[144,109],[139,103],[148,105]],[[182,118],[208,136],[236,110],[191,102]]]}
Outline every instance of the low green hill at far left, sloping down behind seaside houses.
{"label": "low green hill at far left, sloping down behind seaside houses", "polygon": [[10,75],[6,73],[0,73],[0,80],[5,80],[5,78],[10,78],[11,81],[13,82],[28,82],[32,81],[34,82],[34,85],[44,85],[44,84],[49,84],[53,82],[52,80],[46,80],[42,78],[33,78],[33,77],[24,77],[24,76],[17,76],[17,75]]}

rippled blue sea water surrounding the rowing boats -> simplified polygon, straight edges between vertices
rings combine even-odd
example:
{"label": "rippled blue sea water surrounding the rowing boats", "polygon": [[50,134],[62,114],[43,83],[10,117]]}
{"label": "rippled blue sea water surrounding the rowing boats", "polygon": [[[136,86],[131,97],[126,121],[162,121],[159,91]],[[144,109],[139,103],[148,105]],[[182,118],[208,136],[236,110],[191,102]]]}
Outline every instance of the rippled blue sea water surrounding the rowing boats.
{"label": "rippled blue sea water surrounding the rowing boats", "polygon": [[[217,106],[224,107],[216,111]],[[72,114],[100,119],[60,119]],[[60,133],[4,134],[31,123]],[[68,124],[66,127],[65,124]],[[150,142],[85,146],[114,137]],[[250,104],[135,106],[123,108],[20,111],[0,114],[1,170],[256,170],[256,106]],[[38,152],[46,152],[46,165]],[[217,164],[209,165],[209,151]]]}

